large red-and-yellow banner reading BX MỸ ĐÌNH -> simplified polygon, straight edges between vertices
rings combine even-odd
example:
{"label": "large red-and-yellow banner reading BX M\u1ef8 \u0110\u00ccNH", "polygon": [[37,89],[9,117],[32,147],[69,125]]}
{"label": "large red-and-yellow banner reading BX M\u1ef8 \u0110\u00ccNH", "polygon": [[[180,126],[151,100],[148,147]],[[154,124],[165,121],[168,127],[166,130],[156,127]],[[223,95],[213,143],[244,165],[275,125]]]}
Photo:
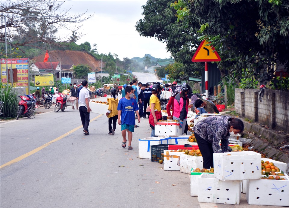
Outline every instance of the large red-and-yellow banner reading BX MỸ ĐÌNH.
{"label": "large red-and-yellow banner reading BX M\u1ef8 \u0110\u00ccNH", "polygon": [[[7,73],[13,70],[13,87],[25,87],[28,94],[28,58],[26,59],[7,59]],[[15,75],[15,72],[17,76]],[[1,59],[1,82],[7,84],[6,59]],[[11,84],[11,83],[8,83]]]}

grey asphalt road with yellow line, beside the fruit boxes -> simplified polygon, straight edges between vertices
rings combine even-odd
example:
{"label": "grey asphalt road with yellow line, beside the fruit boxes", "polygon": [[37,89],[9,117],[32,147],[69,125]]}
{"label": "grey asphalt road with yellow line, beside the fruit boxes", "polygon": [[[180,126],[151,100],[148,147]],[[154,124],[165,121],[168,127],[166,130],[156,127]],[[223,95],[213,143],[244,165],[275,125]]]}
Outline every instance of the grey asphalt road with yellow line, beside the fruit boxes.
{"label": "grey asphalt road with yellow line, beside the fruit boxes", "polygon": [[240,205],[199,203],[188,174],[138,158],[148,119],[133,133],[133,150],[121,147],[119,125],[112,136],[106,116],[90,119],[89,136],[72,107],[1,122],[0,207],[272,207],[248,205],[245,194]]}

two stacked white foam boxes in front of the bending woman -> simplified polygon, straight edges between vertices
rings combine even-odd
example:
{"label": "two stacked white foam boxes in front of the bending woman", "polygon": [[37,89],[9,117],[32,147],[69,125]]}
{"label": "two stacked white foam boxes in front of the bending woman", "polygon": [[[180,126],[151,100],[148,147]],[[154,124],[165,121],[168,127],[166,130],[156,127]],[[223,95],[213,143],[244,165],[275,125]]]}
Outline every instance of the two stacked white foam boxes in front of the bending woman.
{"label": "two stacked white foam boxes in front of the bending woman", "polygon": [[256,152],[214,153],[214,176],[199,178],[198,201],[239,204],[242,180],[261,178],[261,154]]}

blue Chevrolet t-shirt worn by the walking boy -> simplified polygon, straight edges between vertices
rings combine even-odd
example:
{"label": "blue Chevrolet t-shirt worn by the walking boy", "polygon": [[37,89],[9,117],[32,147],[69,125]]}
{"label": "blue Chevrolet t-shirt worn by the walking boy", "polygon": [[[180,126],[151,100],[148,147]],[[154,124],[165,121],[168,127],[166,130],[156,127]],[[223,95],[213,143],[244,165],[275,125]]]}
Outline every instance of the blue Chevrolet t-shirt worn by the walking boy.
{"label": "blue Chevrolet t-shirt worn by the walking boy", "polygon": [[135,111],[138,109],[135,99],[121,98],[117,106],[117,110],[121,110],[121,124],[135,125]]}

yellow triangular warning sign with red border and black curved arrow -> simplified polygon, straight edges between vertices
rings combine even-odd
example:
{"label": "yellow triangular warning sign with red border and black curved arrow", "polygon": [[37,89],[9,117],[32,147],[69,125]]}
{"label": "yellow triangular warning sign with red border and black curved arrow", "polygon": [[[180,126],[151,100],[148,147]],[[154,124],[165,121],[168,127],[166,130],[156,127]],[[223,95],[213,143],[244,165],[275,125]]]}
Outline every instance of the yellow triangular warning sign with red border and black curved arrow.
{"label": "yellow triangular warning sign with red border and black curved arrow", "polygon": [[209,46],[210,42],[204,40],[201,42],[198,47],[196,53],[192,58],[192,62],[219,62],[221,58],[219,54],[214,51],[215,48],[213,46]]}

